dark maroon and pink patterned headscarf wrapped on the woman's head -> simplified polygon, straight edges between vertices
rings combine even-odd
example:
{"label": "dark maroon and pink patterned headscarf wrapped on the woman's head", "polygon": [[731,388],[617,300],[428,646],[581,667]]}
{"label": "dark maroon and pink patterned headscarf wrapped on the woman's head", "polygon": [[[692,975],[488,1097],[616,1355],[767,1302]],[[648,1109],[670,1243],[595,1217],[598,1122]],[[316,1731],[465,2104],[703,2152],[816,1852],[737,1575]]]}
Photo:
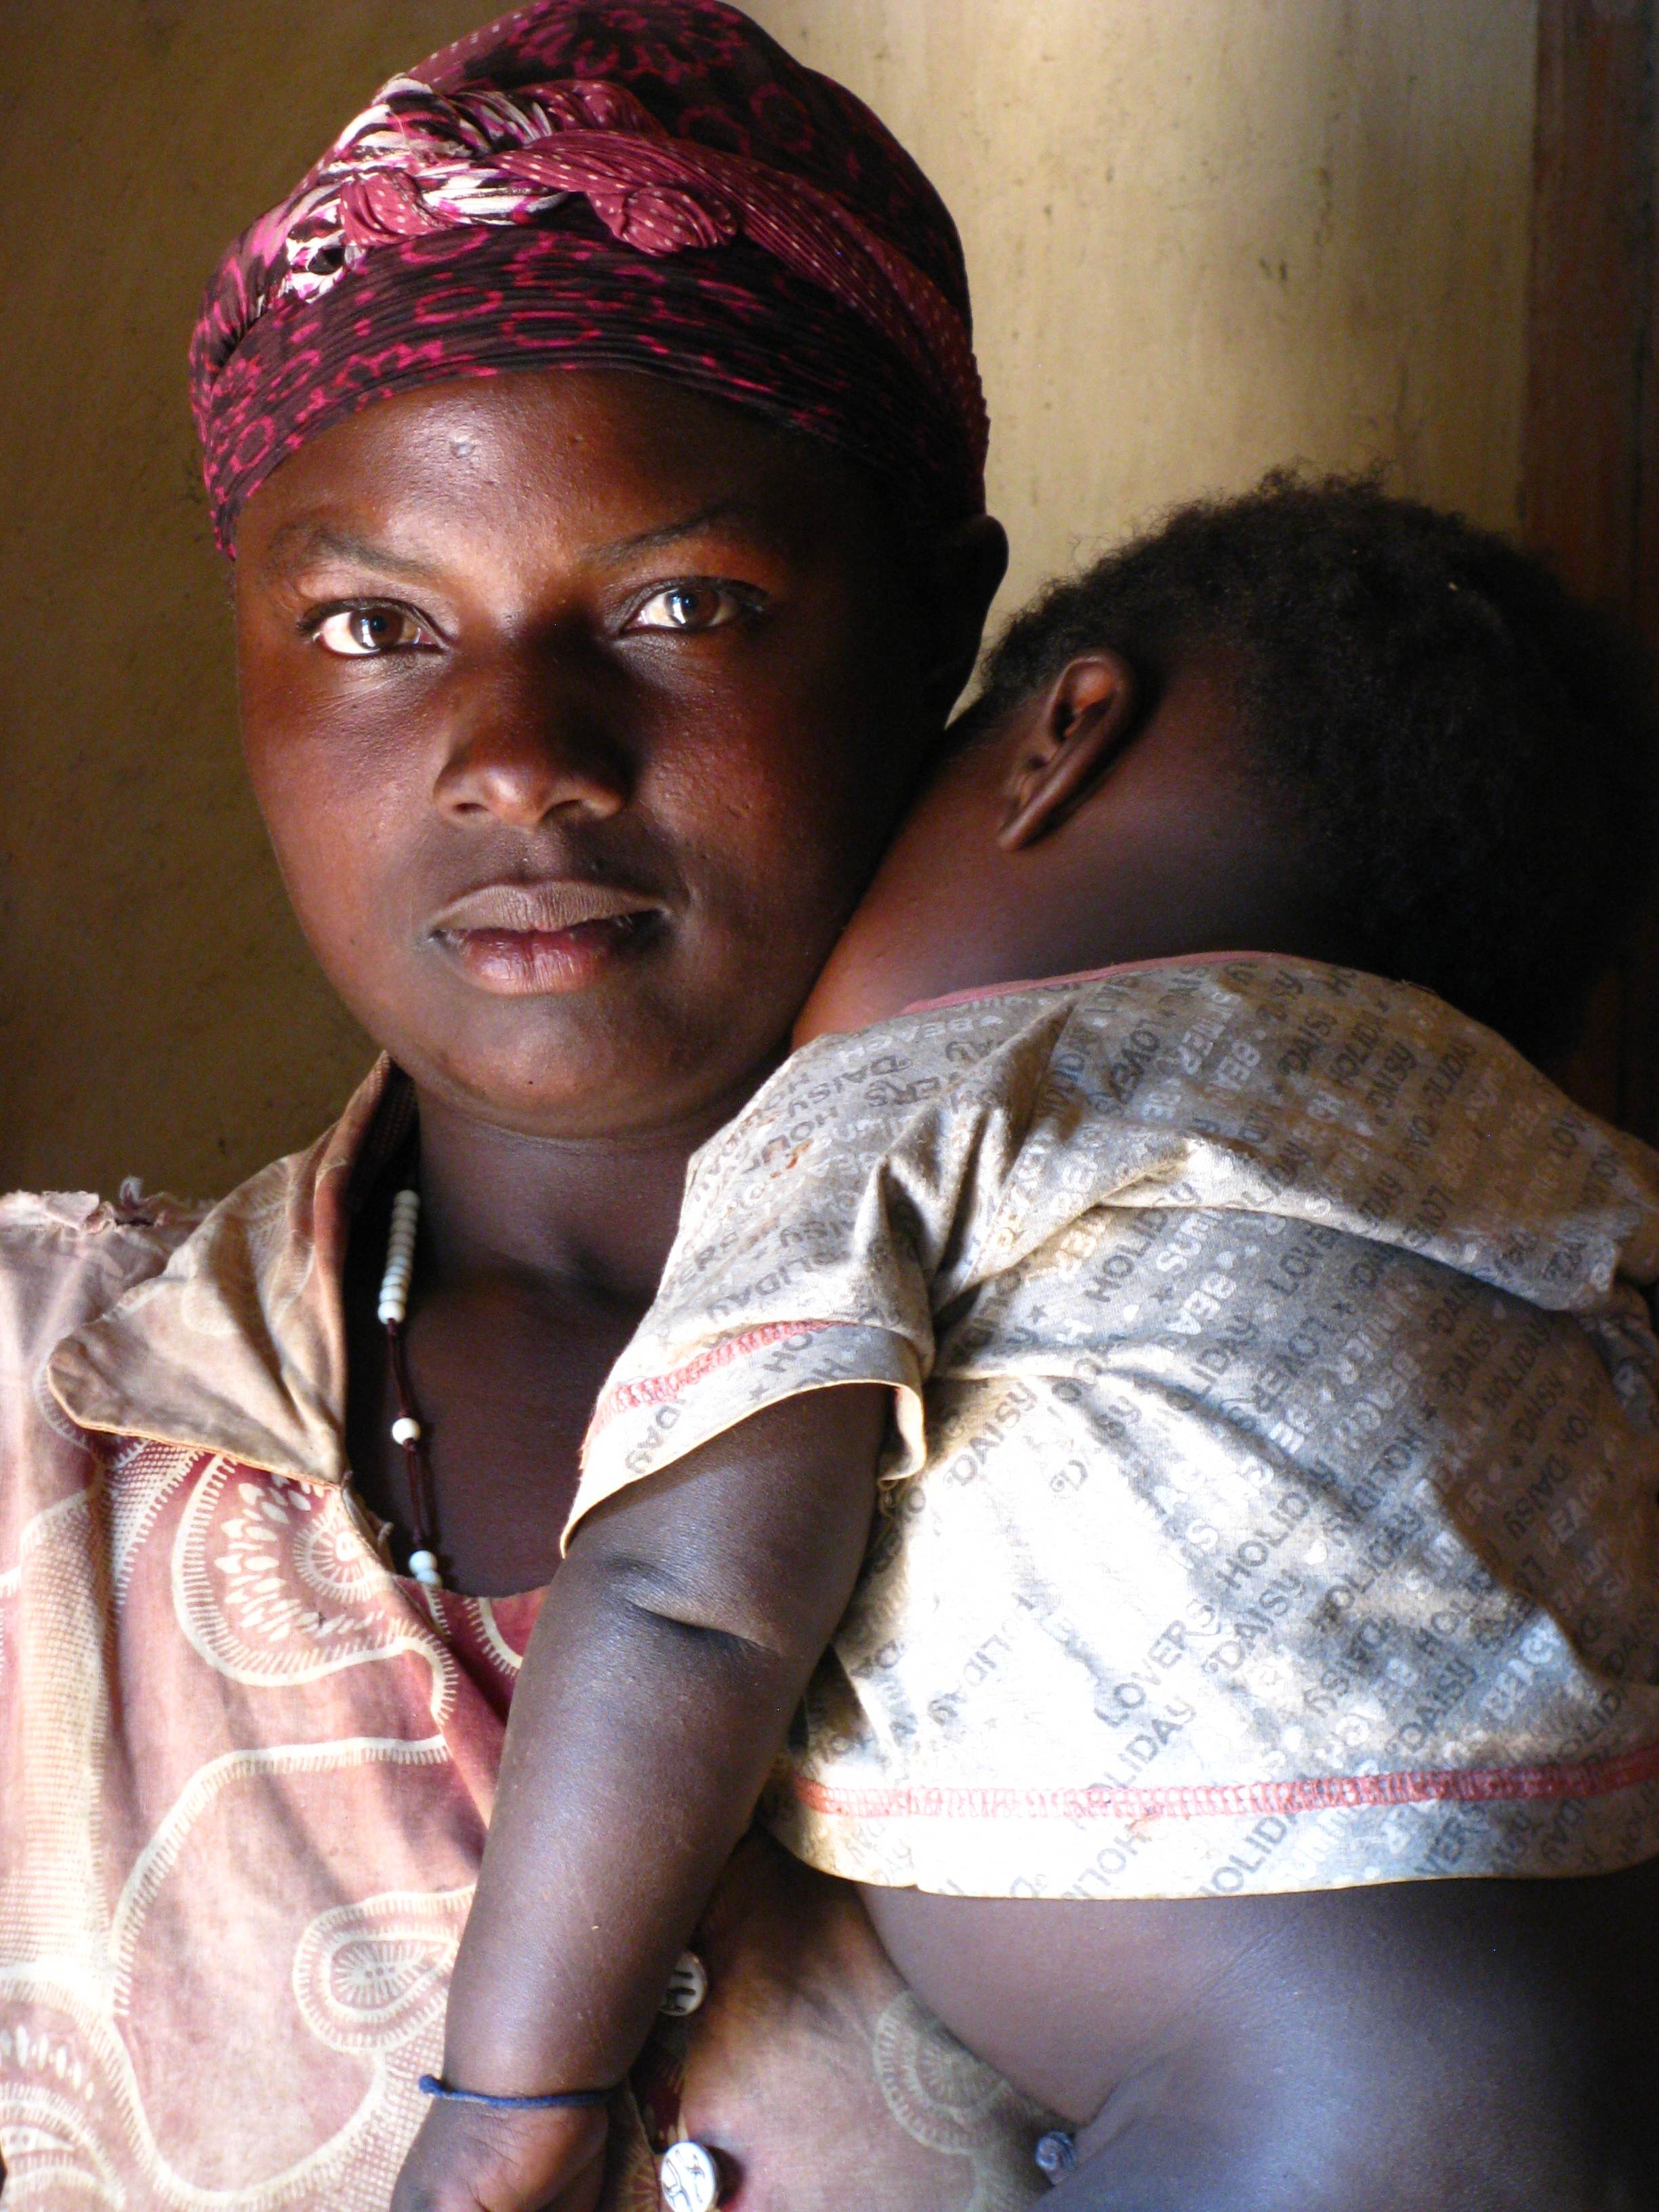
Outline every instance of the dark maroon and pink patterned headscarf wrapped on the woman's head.
{"label": "dark maroon and pink patterned headscarf wrapped on the woman's head", "polygon": [[956,226],[852,93],[721,0],[533,0],[394,77],[230,248],[190,347],[212,520],[392,392],[646,369],[984,507]]}

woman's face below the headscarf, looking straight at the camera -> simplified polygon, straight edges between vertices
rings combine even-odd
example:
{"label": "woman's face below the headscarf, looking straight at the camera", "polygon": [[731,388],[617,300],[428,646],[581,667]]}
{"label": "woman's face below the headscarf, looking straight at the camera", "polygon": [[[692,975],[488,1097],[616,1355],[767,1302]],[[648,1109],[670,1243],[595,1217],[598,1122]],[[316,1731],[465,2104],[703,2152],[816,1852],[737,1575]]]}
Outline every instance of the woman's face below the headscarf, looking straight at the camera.
{"label": "woman's face below the headscarf, looking straight at the camera", "polygon": [[834,456],[655,378],[434,385],[303,447],[239,526],[243,726],[365,1029],[529,1135],[750,1079],[967,672],[984,606],[918,635],[907,582]]}

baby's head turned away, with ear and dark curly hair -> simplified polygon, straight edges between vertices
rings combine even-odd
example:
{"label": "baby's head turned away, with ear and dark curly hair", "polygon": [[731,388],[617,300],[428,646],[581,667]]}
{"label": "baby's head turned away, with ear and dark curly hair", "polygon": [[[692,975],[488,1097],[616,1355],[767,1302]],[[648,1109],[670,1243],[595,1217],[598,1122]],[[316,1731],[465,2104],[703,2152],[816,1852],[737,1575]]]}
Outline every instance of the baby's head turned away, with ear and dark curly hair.
{"label": "baby's head turned away, with ear and dark curly hair", "polygon": [[796,1035],[1281,951],[1553,1057],[1630,922],[1652,776],[1639,653],[1537,560],[1365,480],[1270,476],[1015,617]]}

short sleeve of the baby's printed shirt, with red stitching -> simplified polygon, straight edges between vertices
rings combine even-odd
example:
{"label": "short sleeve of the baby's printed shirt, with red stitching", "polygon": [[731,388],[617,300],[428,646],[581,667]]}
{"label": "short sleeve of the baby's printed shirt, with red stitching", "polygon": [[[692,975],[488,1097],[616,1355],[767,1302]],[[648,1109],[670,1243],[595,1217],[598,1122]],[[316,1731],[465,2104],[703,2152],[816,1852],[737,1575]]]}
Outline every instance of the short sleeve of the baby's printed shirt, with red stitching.
{"label": "short sleeve of the baby's printed shirt, with red stitching", "polygon": [[940,1265],[993,1219],[1053,1042],[1006,1026],[982,1053],[960,1051],[971,1015],[821,1037],[697,1155],[566,1540],[604,1498],[801,1391],[889,1385],[883,1478],[922,1464]]}

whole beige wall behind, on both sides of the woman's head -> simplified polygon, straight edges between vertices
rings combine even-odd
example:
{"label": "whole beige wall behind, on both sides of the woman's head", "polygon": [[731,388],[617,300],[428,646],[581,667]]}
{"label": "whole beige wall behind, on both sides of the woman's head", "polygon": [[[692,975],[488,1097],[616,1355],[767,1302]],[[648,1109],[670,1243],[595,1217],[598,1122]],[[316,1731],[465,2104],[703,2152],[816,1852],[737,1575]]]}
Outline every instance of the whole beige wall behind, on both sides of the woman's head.
{"label": "whole beige wall behind, on both sides of the woman's head", "polygon": [[[489,0],[0,0],[0,1186],[221,1190],[363,1064],[234,759],[195,296]],[[1511,522],[1535,0],[761,0],[962,223],[1011,591],[1276,460]]]}

